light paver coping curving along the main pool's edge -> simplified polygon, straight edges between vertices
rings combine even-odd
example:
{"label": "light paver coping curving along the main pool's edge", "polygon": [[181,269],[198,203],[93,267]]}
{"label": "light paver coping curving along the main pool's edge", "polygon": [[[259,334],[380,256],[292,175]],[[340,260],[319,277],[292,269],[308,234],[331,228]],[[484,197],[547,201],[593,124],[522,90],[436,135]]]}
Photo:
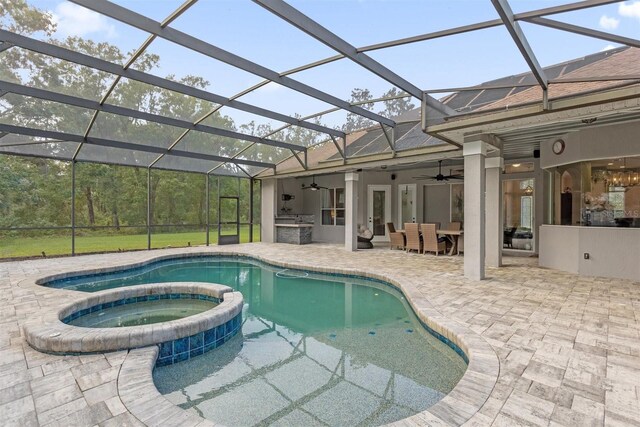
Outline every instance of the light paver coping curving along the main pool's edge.
{"label": "light paver coping curving along the main pool's edge", "polygon": [[[431,406],[427,410],[415,414],[411,417],[402,419],[393,423],[394,425],[462,425],[470,420],[479,413],[479,410],[482,408],[484,403],[489,398],[491,391],[493,390],[500,371],[498,356],[492,347],[482,338],[479,334],[472,331],[469,328],[466,328],[457,322],[448,319],[444,315],[442,315],[425,297],[419,294],[416,287],[411,286],[411,283],[401,283],[397,280],[394,280],[391,277],[387,277],[385,275],[376,274],[370,271],[362,271],[357,268],[331,268],[331,267],[318,267],[314,265],[308,265],[303,262],[300,263],[286,263],[281,262],[275,259],[270,259],[268,257],[264,257],[261,255],[256,255],[248,252],[242,251],[202,251],[202,252],[185,252],[179,254],[167,254],[167,255],[150,255],[143,261],[130,263],[130,264],[121,264],[117,266],[111,266],[106,268],[98,268],[98,269],[79,269],[75,271],[69,271],[61,274],[55,275],[47,275],[40,276],[37,280],[35,280],[35,285],[42,288],[41,284],[53,280],[59,280],[71,276],[84,275],[84,274],[102,274],[112,271],[118,271],[121,269],[129,269],[142,267],[149,263],[158,262],[166,259],[181,259],[181,258],[192,258],[199,256],[236,256],[236,257],[244,257],[248,259],[253,259],[256,261],[261,261],[267,264],[274,265],[276,267],[281,268],[290,268],[290,269],[298,269],[298,270],[308,270],[319,273],[333,273],[333,274],[342,274],[342,275],[355,275],[363,278],[374,279],[377,281],[382,281],[389,283],[390,285],[396,287],[400,290],[405,296],[406,300],[410,304],[414,313],[418,318],[433,331],[437,332],[441,336],[447,338],[456,346],[458,346],[468,358],[467,370],[465,371],[463,377],[456,384],[454,389],[449,392],[443,399],[437,402],[435,405]],[[34,284],[31,281],[31,284]],[[49,288],[54,289],[54,288]],[[62,291],[62,289],[58,289],[58,291]],[[72,292],[73,294],[78,294],[78,291],[67,291]],[[150,349],[155,348],[155,354]],[[136,379],[138,388],[144,387],[145,390],[150,391],[151,389],[155,390],[157,396],[155,397],[158,400],[156,404],[162,404],[163,408],[166,401],[168,404],[174,406],[178,411],[182,411],[185,414],[188,414],[189,418],[197,417],[199,422],[207,421],[204,418],[201,418],[193,413],[185,411],[171,402],[169,402],[164,396],[162,396],[158,391],[155,385],[153,384],[153,366],[155,365],[155,359],[157,358],[157,347],[147,347],[143,349],[131,350],[129,354],[132,357],[131,366],[132,370],[136,372]],[[127,356],[127,359],[129,356]],[[151,360],[152,359],[152,360]],[[134,362],[138,363],[134,363]],[[125,361],[126,363],[126,361]],[[127,365],[128,366],[128,365]],[[128,368],[127,368],[128,369]],[[120,376],[123,373],[127,372],[125,366],[123,365],[123,369],[121,371]],[[127,395],[128,391],[128,383],[132,377],[124,376],[122,381],[120,377],[118,378],[118,390],[125,394],[127,397],[127,401],[129,404],[125,403],[125,398],[122,398],[123,403],[127,409],[136,417],[138,417],[138,412],[143,410],[145,407],[138,406],[136,404],[136,399],[131,400],[130,396]],[[122,390],[121,390],[122,388]],[[134,388],[137,390],[137,388]],[[135,393],[138,395],[138,393]],[[155,394],[154,394],[155,396]],[[159,398],[158,398],[159,396]],[[142,402],[148,402],[150,399],[145,394],[139,395],[137,398],[141,404]],[[153,407],[150,405],[150,407]],[[144,416],[145,414],[142,412],[139,414],[140,416]],[[187,415],[183,415],[187,416]],[[150,419],[151,421],[151,419]],[[155,425],[155,424],[149,424]],[[210,425],[210,424],[205,424]]]}

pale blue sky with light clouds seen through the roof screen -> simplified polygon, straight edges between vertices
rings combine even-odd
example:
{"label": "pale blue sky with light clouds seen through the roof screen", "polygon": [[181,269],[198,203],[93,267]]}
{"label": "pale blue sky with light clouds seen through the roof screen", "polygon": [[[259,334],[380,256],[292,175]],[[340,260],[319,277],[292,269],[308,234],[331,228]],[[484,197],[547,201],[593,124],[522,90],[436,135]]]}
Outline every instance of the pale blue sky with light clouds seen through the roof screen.
{"label": "pale blue sky with light clouds seen through the roof screen", "polygon": [[[58,28],[54,36],[58,38],[77,35],[133,51],[147,36],[66,1],[28,2],[52,13]],[[510,4],[518,13],[569,2],[511,0]],[[116,0],[115,3],[162,21],[182,1]],[[290,0],[289,3],[356,47],[498,18],[490,0]],[[549,18],[640,38],[640,0]],[[521,25],[542,66],[617,47],[603,40],[533,24]],[[200,0],[171,26],[278,72],[335,54],[248,0]],[[208,89],[220,95],[233,96],[262,81],[258,76],[165,40],[157,39],[148,51],[160,56],[159,67],[153,74],[202,76],[210,82]],[[529,70],[503,27],[372,51],[369,55],[421,89],[470,86]],[[391,88],[390,83],[347,59],[291,77],[342,99],[349,99],[353,88],[367,88],[375,97]],[[273,83],[241,100],[289,115],[305,116],[331,108]],[[418,104],[417,100],[413,102]],[[280,124],[228,108],[222,112],[237,122],[255,119],[272,126]],[[344,113],[323,117],[331,126],[342,124],[344,119]]]}

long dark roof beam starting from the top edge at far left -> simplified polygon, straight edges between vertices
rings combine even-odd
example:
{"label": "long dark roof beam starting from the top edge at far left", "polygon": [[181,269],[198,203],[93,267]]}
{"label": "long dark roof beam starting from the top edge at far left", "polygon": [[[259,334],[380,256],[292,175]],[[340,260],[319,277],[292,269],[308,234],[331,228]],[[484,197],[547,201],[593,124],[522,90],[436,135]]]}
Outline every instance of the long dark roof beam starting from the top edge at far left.
{"label": "long dark roof beam starting from the top edge at far left", "polygon": [[111,3],[106,0],[102,0],[99,2],[96,2],[95,0],[70,0],[70,1],[80,6],[83,6],[89,10],[92,10],[94,12],[100,13],[102,15],[108,16],[117,21],[120,21],[124,24],[138,28],[147,33],[155,34],[160,38],[173,42],[177,45],[183,46],[194,52],[201,53],[210,58],[224,62],[225,64],[229,64],[233,67],[236,67],[238,69],[249,72],[251,74],[263,77],[265,79],[271,80],[274,83],[278,83],[282,86],[288,87],[289,89],[303,93],[312,98],[316,98],[322,102],[326,102],[327,104],[335,105],[336,107],[340,107],[344,110],[366,117],[373,121],[384,123],[387,126],[392,126],[392,127],[395,126],[395,122],[391,119],[388,119],[379,114],[368,111],[364,108],[353,107],[347,101],[344,101],[340,98],[337,98],[333,95],[330,95],[326,92],[318,90],[307,84],[301,83],[292,78],[281,76],[276,71],[270,70],[269,68],[263,67],[260,64],[249,61],[245,58],[242,58],[238,55],[235,55],[231,52],[228,52],[224,49],[221,49],[217,46],[207,43],[196,37],[190,36],[189,34],[186,34],[182,31],[178,31],[175,28],[171,28],[171,27],[163,28],[159,22],[154,21],[150,18],[147,18],[144,15],[140,15],[139,13],[136,13],[125,7],[119,6],[117,4]]}

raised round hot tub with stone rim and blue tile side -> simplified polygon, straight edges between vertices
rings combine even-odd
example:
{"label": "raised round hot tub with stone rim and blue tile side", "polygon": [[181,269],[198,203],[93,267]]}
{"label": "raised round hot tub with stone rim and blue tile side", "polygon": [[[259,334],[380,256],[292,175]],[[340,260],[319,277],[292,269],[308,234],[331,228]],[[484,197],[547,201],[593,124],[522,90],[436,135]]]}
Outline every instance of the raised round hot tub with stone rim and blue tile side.
{"label": "raised round hot tub with stone rim and blue tile side", "polygon": [[241,328],[243,305],[240,292],[219,284],[130,286],[47,309],[42,319],[25,324],[24,332],[32,347],[46,353],[95,353],[158,345],[156,363],[162,366],[206,353],[230,340]]}

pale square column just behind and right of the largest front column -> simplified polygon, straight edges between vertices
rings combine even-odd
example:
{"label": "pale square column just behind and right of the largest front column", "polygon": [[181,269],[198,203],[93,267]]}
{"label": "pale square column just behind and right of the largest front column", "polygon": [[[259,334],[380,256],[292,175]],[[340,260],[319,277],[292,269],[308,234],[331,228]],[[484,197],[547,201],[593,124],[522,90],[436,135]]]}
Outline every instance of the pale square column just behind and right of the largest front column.
{"label": "pale square column just behind and right of the largest front column", "polygon": [[485,193],[485,260],[489,267],[502,265],[502,186],[500,175],[504,167],[502,157],[489,157],[485,161],[487,171]]}

